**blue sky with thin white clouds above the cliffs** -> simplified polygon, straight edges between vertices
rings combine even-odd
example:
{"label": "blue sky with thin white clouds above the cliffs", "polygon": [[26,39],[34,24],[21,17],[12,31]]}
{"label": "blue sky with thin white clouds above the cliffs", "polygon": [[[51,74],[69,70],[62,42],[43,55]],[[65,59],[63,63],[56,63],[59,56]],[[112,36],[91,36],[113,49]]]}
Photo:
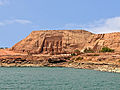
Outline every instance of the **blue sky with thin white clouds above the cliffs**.
{"label": "blue sky with thin white clouds above the cliffs", "polygon": [[120,0],[0,0],[0,47],[34,30],[120,31]]}

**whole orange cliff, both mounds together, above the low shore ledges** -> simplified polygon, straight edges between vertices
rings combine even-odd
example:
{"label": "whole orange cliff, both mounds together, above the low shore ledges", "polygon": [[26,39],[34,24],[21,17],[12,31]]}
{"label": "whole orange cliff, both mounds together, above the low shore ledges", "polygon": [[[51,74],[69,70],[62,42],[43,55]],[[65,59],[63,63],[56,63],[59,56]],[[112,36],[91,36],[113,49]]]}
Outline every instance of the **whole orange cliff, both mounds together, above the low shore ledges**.
{"label": "whole orange cliff, both mounds together, above the low shore ledges", "polygon": [[34,54],[71,53],[75,49],[102,47],[120,51],[120,33],[93,34],[85,30],[41,30],[33,31],[28,37],[15,44],[11,50]]}

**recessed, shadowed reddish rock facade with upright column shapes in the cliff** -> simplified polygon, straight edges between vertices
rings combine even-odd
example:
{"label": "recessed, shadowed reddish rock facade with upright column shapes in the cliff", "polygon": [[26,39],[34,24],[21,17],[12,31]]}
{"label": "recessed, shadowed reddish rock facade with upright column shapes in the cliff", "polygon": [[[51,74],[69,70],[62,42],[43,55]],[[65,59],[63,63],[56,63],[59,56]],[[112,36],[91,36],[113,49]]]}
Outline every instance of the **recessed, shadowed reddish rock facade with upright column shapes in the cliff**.
{"label": "recessed, shadowed reddish rock facade with upright column shapes in the cliff", "polygon": [[40,53],[59,54],[62,53],[62,36],[45,37]]}

